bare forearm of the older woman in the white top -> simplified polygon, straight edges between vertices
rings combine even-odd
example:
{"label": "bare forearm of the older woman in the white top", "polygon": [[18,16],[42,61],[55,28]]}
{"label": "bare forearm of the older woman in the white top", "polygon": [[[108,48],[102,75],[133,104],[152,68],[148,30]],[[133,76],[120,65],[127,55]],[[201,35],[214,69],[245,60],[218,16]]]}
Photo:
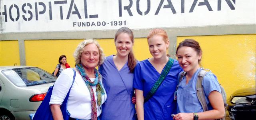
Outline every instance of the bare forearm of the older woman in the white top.
{"label": "bare forearm of the older woman in the white top", "polygon": [[50,105],[52,117],[54,120],[63,120],[62,112],[60,110],[59,104],[51,104]]}

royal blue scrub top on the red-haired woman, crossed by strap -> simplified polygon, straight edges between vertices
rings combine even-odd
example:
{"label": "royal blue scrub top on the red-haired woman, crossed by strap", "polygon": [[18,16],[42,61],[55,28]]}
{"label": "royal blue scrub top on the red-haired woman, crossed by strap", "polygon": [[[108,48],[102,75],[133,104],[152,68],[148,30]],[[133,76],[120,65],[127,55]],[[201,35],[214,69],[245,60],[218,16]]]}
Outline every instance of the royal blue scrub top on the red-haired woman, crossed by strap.
{"label": "royal blue scrub top on the red-haired woman, crossed by strap", "polygon": [[[176,102],[174,92],[176,91],[178,74],[182,71],[178,61],[174,60],[172,68],[158,90],[144,104],[145,120],[172,120],[171,114],[176,114]],[[148,60],[138,62],[134,70],[133,87],[143,90],[144,98],[154,86],[160,74]]]}

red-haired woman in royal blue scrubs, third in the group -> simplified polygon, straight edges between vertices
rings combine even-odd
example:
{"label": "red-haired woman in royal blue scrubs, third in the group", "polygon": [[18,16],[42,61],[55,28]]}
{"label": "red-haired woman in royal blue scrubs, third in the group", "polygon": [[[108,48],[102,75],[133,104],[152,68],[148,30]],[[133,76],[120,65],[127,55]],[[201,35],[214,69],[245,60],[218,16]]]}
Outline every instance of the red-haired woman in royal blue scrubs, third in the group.
{"label": "red-haired woman in royal blue scrubs, third in the group", "polygon": [[134,71],[136,93],[136,112],[138,120],[171,120],[176,113],[174,92],[176,91],[178,74],[182,71],[177,60],[155,94],[144,103],[144,97],[154,86],[162,70],[166,67],[169,57],[167,33],[162,29],[151,30],[148,34],[148,47],[152,58],[138,62]]}

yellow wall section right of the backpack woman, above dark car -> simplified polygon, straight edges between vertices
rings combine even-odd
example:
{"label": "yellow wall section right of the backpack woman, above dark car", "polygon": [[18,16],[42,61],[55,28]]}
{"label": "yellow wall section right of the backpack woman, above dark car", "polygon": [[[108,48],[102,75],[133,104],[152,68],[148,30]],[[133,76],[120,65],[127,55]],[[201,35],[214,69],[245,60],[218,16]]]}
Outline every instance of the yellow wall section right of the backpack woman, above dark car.
{"label": "yellow wall section right of the backpack woman, above dark car", "polygon": [[199,42],[202,66],[212,70],[227,96],[239,88],[255,86],[256,34],[177,37]]}

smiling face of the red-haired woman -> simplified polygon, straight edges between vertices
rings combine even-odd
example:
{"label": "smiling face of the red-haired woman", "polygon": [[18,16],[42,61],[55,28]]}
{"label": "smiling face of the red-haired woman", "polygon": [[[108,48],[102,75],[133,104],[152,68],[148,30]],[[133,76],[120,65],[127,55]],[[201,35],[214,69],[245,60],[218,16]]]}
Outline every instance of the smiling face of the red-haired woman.
{"label": "smiling face of the red-haired woman", "polygon": [[148,47],[150,54],[154,59],[166,58],[166,50],[169,47],[169,40],[164,42],[163,37],[160,35],[154,35],[148,39]]}

